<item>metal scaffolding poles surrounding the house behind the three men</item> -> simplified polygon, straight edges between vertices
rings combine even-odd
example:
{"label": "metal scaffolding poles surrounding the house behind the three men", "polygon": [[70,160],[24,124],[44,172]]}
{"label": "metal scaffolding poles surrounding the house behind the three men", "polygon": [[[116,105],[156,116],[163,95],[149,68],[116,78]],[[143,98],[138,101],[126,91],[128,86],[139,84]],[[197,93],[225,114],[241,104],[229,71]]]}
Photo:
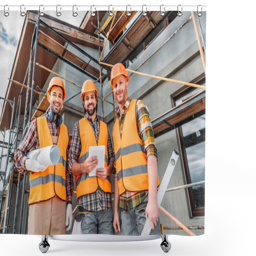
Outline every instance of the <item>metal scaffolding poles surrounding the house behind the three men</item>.
{"label": "metal scaffolding poles surrounding the house behind the three men", "polygon": [[[11,82],[20,85],[22,88],[20,90],[20,94],[19,94],[19,99],[18,99],[18,103],[17,103],[17,108],[16,108],[16,113],[15,113],[15,118],[14,118],[14,122],[13,122],[13,115],[14,115],[14,106],[15,106],[15,98],[13,99],[13,101],[5,99],[0,97],[0,99],[8,101],[9,104],[12,107],[12,116],[11,116],[11,124],[10,124],[10,130],[9,130],[9,139],[8,139],[8,144],[5,142],[5,137],[6,137],[6,129],[4,129],[4,131],[1,131],[4,139],[3,141],[0,141],[0,146],[2,143],[2,149],[1,149],[1,156],[0,156],[0,168],[1,168],[1,164],[2,164],[2,158],[4,156],[6,156],[6,164],[5,164],[5,172],[1,173],[0,172],[0,182],[3,180],[3,190],[2,193],[0,195],[0,210],[2,209],[2,204],[3,204],[3,199],[4,199],[4,192],[6,190],[6,187],[8,186],[8,190],[7,190],[7,194],[6,194],[6,198],[5,198],[5,203],[4,203],[4,211],[1,212],[1,214],[3,214],[1,217],[1,224],[0,224],[0,230],[4,230],[4,233],[8,232],[8,228],[9,228],[9,216],[10,216],[10,208],[11,208],[11,195],[12,195],[12,184],[13,184],[13,174],[14,174],[14,170],[15,170],[15,166],[14,163],[12,162],[11,168],[10,168],[10,172],[7,174],[7,166],[8,166],[8,162],[9,162],[9,158],[11,153],[14,153],[14,150],[17,148],[18,145],[18,141],[21,141],[23,139],[23,137],[25,136],[27,130],[28,130],[28,126],[31,122],[31,118],[32,118],[32,109],[35,108],[33,107],[33,100],[34,100],[34,93],[39,94],[41,96],[46,97],[46,93],[40,89],[38,86],[36,86],[35,89],[35,72],[36,72],[36,66],[43,68],[44,70],[48,71],[49,73],[52,73],[56,76],[61,77],[62,79],[65,79],[67,82],[69,82],[70,84],[73,84],[79,88],[82,88],[80,85],[75,84],[74,82],[66,79],[65,77],[61,76],[60,74],[44,67],[43,65],[39,64],[36,62],[36,57],[37,57],[37,46],[40,46],[41,48],[43,48],[44,50],[46,50],[47,52],[50,52],[51,54],[53,54],[55,57],[59,58],[60,60],[64,61],[65,63],[67,63],[68,65],[70,65],[73,68],[76,68],[77,70],[79,70],[80,72],[82,72],[83,74],[89,76],[90,78],[92,78],[94,80],[94,82],[99,82],[100,83],[100,91],[101,91],[101,95],[98,96],[98,98],[100,99],[100,103],[101,103],[101,119],[102,121],[104,120],[103,118],[103,101],[107,102],[108,104],[111,104],[113,106],[113,115],[114,115],[114,121],[116,120],[116,106],[115,106],[115,98],[114,98],[114,92],[113,90],[111,92],[109,92],[105,97],[103,97],[103,93],[102,93],[102,85],[104,80],[108,77],[109,73],[110,73],[110,68],[113,67],[113,65],[105,63],[105,62],[101,62],[101,57],[103,55],[103,51],[105,49],[106,43],[108,41],[108,37],[110,35],[112,26],[114,24],[115,18],[116,18],[116,14],[117,12],[114,13],[113,18],[109,17],[108,22],[110,22],[111,18],[112,23],[111,26],[109,28],[108,31],[108,35],[106,36],[103,28],[100,28],[100,20],[99,20],[99,11],[97,11],[98,13],[98,26],[97,26],[97,30],[98,30],[98,42],[99,42],[99,60],[94,59],[92,56],[90,56],[88,53],[86,53],[85,51],[83,51],[81,48],[79,48],[76,44],[72,43],[71,41],[69,41],[65,36],[61,35],[60,33],[58,33],[55,29],[51,28],[49,25],[47,25],[44,21],[40,20],[40,16],[38,15],[37,20],[36,20],[36,25],[34,28],[34,32],[33,32],[33,36],[32,36],[32,40],[31,40],[31,48],[30,48],[30,59],[29,59],[29,63],[28,63],[28,68],[26,71],[26,75],[25,78],[23,80],[23,83],[20,83],[18,81],[15,80],[11,80]],[[140,13],[141,15],[141,13]],[[117,40],[117,42],[113,45],[113,47],[110,49],[110,51],[108,52],[108,54],[105,56],[105,60],[107,59],[107,57],[115,50],[115,47],[117,44],[123,42],[124,37],[127,35],[127,33],[132,29],[132,27],[136,24],[136,22],[138,22],[138,20],[140,19],[140,15],[135,19],[135,21],[132,23],[132,25],[124,32],[124,34]],[[164,20],[164,18],[162,19],[162,21]],[[145,74],[145,73],[141,73],[138,72],[137,70],[147,61],[149,60],[160,48],[162,48],[164,46],[164,44],[166,44],[184,25],[186,25],[190,20],[193,20],[194,22],[194,27],[195,27],[195,32],[196,32],[196,37],[197,37],[197,41],[198,41],[198,46],[199,46],[199,51],[200,51],[200,55],[202,58],[202,63],[203,63],[203,67],[204,67],[204,73],[205,73],[205,42],[204,42],[204,36],[203,36],[203,32],[202,32],[202,28],[200,25],[200,21],[198,20],[198,17],[196,17],[194,15],[194,12],[191,12],[191,16],[188,18],[187,21],[185,21],[180,28],[178,28],[160,47],[158,47],[156,49],[156,51],[154,51],[154,53],[152,53],[146,60],[144,60],[135,70],[130,70],[130,69],[126,69],[128,72],[131,72],[132,74],[138,74],[138,75],[142,75],[142,76],[148,76],[151,78],[156,78],[156,79],[160,79],[162,81],[169,81],[169,82],[173,82],[173,83],[178,83],[178,84],[183,84],[183,85],[188,85],[188,86],[192,86],[192,87],[197,87],[197,88],[201,88],[205,90],[205,86],[202,85],[198,85],[198,84],[193,84],[193,83],[188,83],[188,82],[184,82],[184,81],[179,81],[179,80],[174,80],[171,78],[166,78],[166,77],[160,77],[160,76],[153,76],[153,75],[149,75],[149,74]],[[118,22],[118,21],[117,21]],[[199,25],[197,25],[199,24]],[[39,33],[39,26],[42,25],[45,28],[49,29],[54,35],[59,36],[62,40],[64,40],[66,42],[66,49],[68,45],[71,45],[73,48],[75,48],[77,51],[81,52],[83,55],[85,55],[86,57],[88,57],[90,59],[90,61],[92,60],[94,63],[97,63],[100,67],[100,77],[95,77],[92,74],[90,74],[89,72],[85,71],[85,68],[80,68],[78,67],[76,64],[72,63],[71,61],[65,59],[62,56],[60,56],[59,54],[57,54],[56,52],[54,52],[53,50],[47,48],[45,45],[41,44],[38,42],[38,33]],[[105,26],[106,24],[104,24]],[[155,24],[156,25],[156,24]],[[158,25],[156,25],[158,26]],[[95,26],[96,27],[96,26]],[[199,30],[199,32],[198,32]],[[105,40],[105,44],[104,47],[102,49],[102,51],[100,50],[100,34],[103,34],[106,37]],[[200,35],[199,35],[200,33]],[[111,42],[109,40],[109,42]],[[203,47],[201,45],[201,42],[203,44]],[[123,42],[124,43],[124,42]],[[112,44],[112,42],[111,42]],[[125,43],[124,43],[125,44]],[[136,48],[137,49],[137,48]],[[32,60],[34,54],[34,60]],[[129,54],[129,56],[131,56],[131,53]],[[127,59],[129,59],[129,56],[127,57]],[[33,61],[33,69],[32,69],[32,61]],[[90,62],[89,61],[89,62]],[[87,65],[89,64],[89,62],[87,63]],[[102,75],[102,69],[103,67],[105,68],[105,70],[107,71],[106,74]],[[32,82],[31,82],[31,86],[30,86],[30,77],[31,77],[31,72],[32,72]],[[25,81],[28,78],[28,84],[25,85]],[[25,104],[25,111],[24,111],[24,117],[23,120],[20,121],[20,112],[21,112],[21,100],[22,100],[22,92],[23,92],[23,88],[25,88],[26,91],[26,104]],[[73,108],[70,105],[66,104],[69,100],[73,99],[74,97],[76,97],[78,94],[80,94],[81,92],[76,92],[74,93],[72,96],[70,96],[68,99],[66,99],[63,103],[63,105],[67,108],[71,108],[77,112],[80,112],[83,114],[82,111],[80,111],[79,109]],[[106,100],[106,98],[112,93],[113,96],[113,103]],[[30,95],[29,95],[30,94]],[[29,97],[30,97],[30,102],[29,102]],[[19,108],[18,108],[19,106]],[[38,109],[38,108],[36,108]],[[38,109],[40,110],[40,109]],[[27,114],[28,114],[28,120],[27,120]],[[16,125],[16,119],[17,119],[17,125]],[[23,128],[22,128],[22,122],[23,122]],[[177,128],[175,126],[175,128]],[[22,132],[22,136],[21,139],[18,139],[18,136],[20,134],[20,132]],[[12,135],[12,136],[11,136]],[[12,137],[12,138],[11,138]],[[4,148],[7,149],[7,154],[3,155],[3,150]],[[20,193],[20,182],[21,182],[21,173],[19,172],[18,175],[18,182],[17,182],[17,193],[16,193],[16,201],[15,201],[15,211],[14,211],[14,222],[13,222],[13,230],[12,233],[16,234],[16,222],[17,222],[17,216],[18,216],[18,196]],[[22,222],[24,219],[24,207],[28,207],[24,205],[25,202],[25,194],[28,193],[28,191],[25,191],[26,188],[26,183],[27,183],[27,171],[24,172],[24,177],[23,177],[23,187],[22,187],[22,197],[21,197],[21,206],[20,206],[20,220],[19,220],[19,228],[18,228],[18,234],[21,234],[22,232]],[[188,187],[192,187],[192,186],[196,186],[196,185],[201,185],[204,184],[204,181],[201,182],[197,182],[197,183],[193,183],[193,184],[187,184],[187,185],[183,185],[183,186],[179,186],[179,187],[175,187],[175,188],[170,188],[167,189],[166,192],[168,191],[172,191],[172,190],[176,190],[176,189],[181,189],[181,188],[188,188]],[[7,205],[6,205],[7,204]],[[76,209],[74,209],[73,213],[75,212]],[[184,229],[188,234],[190,235],[194,235],[191,231],[187,230],[187,228],[180,223],[177,219],[175,219],[170,213],[168,213],[166,210],[164,210],[164,208],[162,208],[160,206],[160,210],[162,210],[165,214],[167,214],[167,216],[169,216],[172,220],[174,220],[182,229]],[[6,214],[6,226],[1,227],[2,226],[2,221],[3,221],[3,217],[4,214]],[[169,227],[172,228],[172,227]],[[174,229],[174,228],[173,228]],[[0,231],[1,233],[1,231]]]}

